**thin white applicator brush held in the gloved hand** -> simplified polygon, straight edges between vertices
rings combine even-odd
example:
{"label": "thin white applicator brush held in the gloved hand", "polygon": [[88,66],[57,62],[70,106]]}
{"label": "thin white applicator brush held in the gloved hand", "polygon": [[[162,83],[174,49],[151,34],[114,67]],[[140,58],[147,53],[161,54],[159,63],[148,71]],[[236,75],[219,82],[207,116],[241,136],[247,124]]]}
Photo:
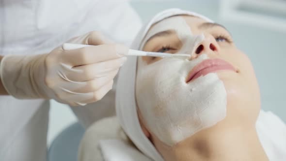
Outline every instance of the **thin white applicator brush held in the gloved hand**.
{"label": "thin white applicator brush held in the gloved hand", "polygon": [[[84,48],[89,47],[92,45],[82,45],[82,44],[70,44],[70,43],[64,43],[63,49],[64,50],[72,50],[77,48]],[[133,55],[133,56],[152,56],[152,57],[176,57],[176,58],[191,58],[191,55],[189,54],[169,54],[169,53],[162,53],[162,52],[149,52],[149,51],[140,51],[140,50],[133,50],[129,49],[128,53],[126,55]]]}

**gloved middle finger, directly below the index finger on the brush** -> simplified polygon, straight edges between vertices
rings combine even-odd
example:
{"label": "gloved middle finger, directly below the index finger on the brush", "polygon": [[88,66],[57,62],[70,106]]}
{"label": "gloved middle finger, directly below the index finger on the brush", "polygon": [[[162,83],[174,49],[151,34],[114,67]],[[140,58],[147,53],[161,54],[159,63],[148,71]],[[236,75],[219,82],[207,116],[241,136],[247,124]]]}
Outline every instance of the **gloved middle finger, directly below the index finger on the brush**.
{"label": "gloved middle finger, directly below the index finger on the brush", "polygon": [[126,57],[122,57],[106,62],[66,68],[65,75],[71,81],[90,81],[95,78],[105,77],[109,72],[119,69],[126,60]]}

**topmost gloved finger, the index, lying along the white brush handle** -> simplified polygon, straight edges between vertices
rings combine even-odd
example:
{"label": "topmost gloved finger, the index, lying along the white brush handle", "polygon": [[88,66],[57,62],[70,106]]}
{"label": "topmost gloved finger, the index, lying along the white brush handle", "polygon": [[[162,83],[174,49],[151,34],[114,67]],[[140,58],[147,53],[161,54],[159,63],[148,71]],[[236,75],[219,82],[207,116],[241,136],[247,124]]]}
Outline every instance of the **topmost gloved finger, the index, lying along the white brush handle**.
{"label": "topmost gloved finger, the index, lying along the white brush handle", "polygon": [[105,44],[64,51],[62,61],[70,66],[79,66],[120,58],[127,53],[127,47]]}

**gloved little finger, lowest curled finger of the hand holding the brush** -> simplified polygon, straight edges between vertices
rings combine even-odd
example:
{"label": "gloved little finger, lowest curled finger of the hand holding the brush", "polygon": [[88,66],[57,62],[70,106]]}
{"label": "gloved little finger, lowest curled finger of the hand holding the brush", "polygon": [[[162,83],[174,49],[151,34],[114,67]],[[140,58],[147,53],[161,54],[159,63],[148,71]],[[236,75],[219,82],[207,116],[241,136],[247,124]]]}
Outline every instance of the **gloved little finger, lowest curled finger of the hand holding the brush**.
{"label": "gloved little finger, lowest curled finger of the hand holding the brush", "polygon": [[113,85],[113,80],[108,82],[106,85],[102,86],[99,90],[92,93],[88,93],[88,95],[92,94],[92,97],[78,97],[77,95],[71,95],[69,99],[74,101],[69,103],[69,105],[83,106],[88,103],[96,102],[102,99],[112,89],[112,85]]}

